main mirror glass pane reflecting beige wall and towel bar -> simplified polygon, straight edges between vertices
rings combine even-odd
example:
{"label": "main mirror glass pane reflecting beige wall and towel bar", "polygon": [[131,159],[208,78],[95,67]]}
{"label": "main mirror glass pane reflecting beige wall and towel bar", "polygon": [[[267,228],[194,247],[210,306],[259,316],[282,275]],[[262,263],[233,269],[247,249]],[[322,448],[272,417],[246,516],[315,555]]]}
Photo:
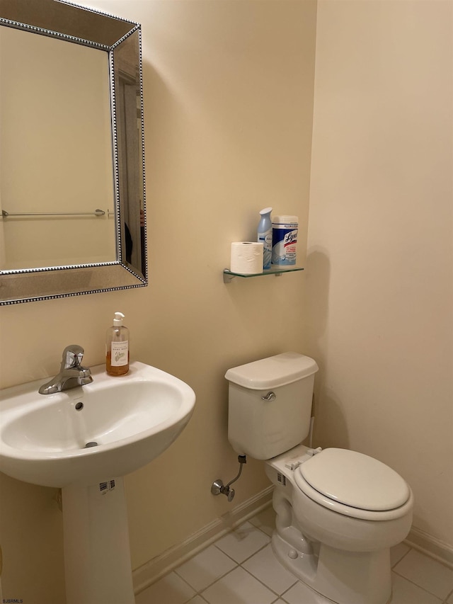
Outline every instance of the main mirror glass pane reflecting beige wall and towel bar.
{"label": "main mirror glass pane reflecting beige wall and towel bar", "polygon": [[0,74],[0,270],[115,261],[107,53],[2,27]]}

